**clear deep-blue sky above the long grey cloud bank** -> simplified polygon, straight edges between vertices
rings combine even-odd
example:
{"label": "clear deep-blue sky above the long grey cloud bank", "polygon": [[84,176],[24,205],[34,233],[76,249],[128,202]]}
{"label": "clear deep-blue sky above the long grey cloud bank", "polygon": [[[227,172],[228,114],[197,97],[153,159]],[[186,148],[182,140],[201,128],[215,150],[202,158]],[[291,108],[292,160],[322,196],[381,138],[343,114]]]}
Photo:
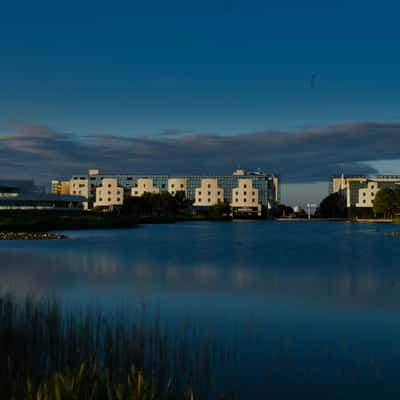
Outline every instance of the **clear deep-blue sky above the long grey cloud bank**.
{"label": "clear deep-blue sky above the long grey cloud bank", "polygon": [[2,2],[0,129],[151,139],[393,123],[399,13],[370,0]]}

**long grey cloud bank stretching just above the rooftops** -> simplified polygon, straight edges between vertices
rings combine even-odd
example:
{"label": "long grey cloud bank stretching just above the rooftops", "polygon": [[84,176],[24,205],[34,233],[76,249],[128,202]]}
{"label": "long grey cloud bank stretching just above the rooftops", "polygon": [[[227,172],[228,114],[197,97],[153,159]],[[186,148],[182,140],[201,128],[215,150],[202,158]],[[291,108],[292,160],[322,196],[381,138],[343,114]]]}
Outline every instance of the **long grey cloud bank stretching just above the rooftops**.
{"label": "long grey cloud bank stretching just above the rooftops", "polygon": [[317,182],[342,172],[376,173],[368,161],[396,159],[400,159],[400,123],[352,123],[290,133],[190,133],[155,138],[78,137],[25,124],[0,135],[1,175],[42,182],[93,167],[104,172],[138,174],[231,173],[238,165],[279,174],[287,183]]}

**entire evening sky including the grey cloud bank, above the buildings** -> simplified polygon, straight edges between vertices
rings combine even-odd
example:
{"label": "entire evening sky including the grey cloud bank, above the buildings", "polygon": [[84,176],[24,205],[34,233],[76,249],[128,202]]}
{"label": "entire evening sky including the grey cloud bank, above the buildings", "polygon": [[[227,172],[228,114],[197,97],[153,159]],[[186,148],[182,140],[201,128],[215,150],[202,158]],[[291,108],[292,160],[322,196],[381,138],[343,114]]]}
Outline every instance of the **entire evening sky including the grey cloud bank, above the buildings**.
{"label": "entire evening sky including the grey cloud bank, above the buildings", "polygon": [[400,4],[268,0],[0,5],[0,175],[400,174]]}

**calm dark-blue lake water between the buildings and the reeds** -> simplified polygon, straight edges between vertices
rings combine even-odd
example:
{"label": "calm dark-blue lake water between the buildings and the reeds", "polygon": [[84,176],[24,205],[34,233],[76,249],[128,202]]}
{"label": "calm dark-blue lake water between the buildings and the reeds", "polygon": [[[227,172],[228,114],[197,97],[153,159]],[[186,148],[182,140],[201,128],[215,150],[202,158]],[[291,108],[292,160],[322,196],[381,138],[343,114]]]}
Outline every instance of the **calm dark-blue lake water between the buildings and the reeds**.
{"label": "calm dark-blue lake water between the buildings and the reeds", "polygon": [[[395,225],[233,222],[0,242],[2,290],[71,307],[145,304],[235,350],[239,398],[400,394]],[[222,374],[224,375],[224,374]]]}

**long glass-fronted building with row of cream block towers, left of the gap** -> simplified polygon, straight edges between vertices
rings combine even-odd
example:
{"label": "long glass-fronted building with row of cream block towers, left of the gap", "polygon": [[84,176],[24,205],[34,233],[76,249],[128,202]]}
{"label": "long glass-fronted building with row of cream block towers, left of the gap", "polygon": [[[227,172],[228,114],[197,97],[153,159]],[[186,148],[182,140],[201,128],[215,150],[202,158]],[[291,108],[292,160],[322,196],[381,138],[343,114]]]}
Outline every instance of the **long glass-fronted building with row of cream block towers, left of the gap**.
{"label": "long glass-fronted building with row of cream block towers, left of the gap", "polygon": [[[114,194],[105,196],[104,181],[114,179]],[[247,183],[243,183],[246,181]],[[250,184],[251,183],[251,184]],[[193,200],[194,207],[209,207],[218,200],[226,201],[245,213],[250,209],[259,213],[262,206],[273,207],[279,201],[279,178],[261,171],[246,172],[237,170],[232,175],[104,175],[98,170],[90,170],[87,175],[76,175],[69,181],[70,194],[81,195],[88,199],[88,207],[122,204],[125,196],[141,196],[145,192],[169,192],[175,195],[182,191]],[[244,184],[249,185],[249,193],[244,195]],[[210,185],[210,187],[208,187]],[[97,190],[98,188],[101,190]],[[107,189],[107,188],[106,188]],[[233,195],[235,189],[243,192],[240,202]],[[120,192],[119,194],[117,192]],[[247,191],[246,191],[247,192]],[[201,197],[199,195],[201,193]],[[209,194],[210,193],[210,194]],[[246,196],[246,197],[245,197]],[[102,199],[100,201],[100,198]],[[253,204],[253,198],[255,203]],[[109,201],[108,199],[111,199]],[[117,201],[117,199],[120,199]],[[210,199],[210,201],[209,201]],[[244,201],[246,199],[246,201]],[[254,207],[253,207],[254,206]]]}

